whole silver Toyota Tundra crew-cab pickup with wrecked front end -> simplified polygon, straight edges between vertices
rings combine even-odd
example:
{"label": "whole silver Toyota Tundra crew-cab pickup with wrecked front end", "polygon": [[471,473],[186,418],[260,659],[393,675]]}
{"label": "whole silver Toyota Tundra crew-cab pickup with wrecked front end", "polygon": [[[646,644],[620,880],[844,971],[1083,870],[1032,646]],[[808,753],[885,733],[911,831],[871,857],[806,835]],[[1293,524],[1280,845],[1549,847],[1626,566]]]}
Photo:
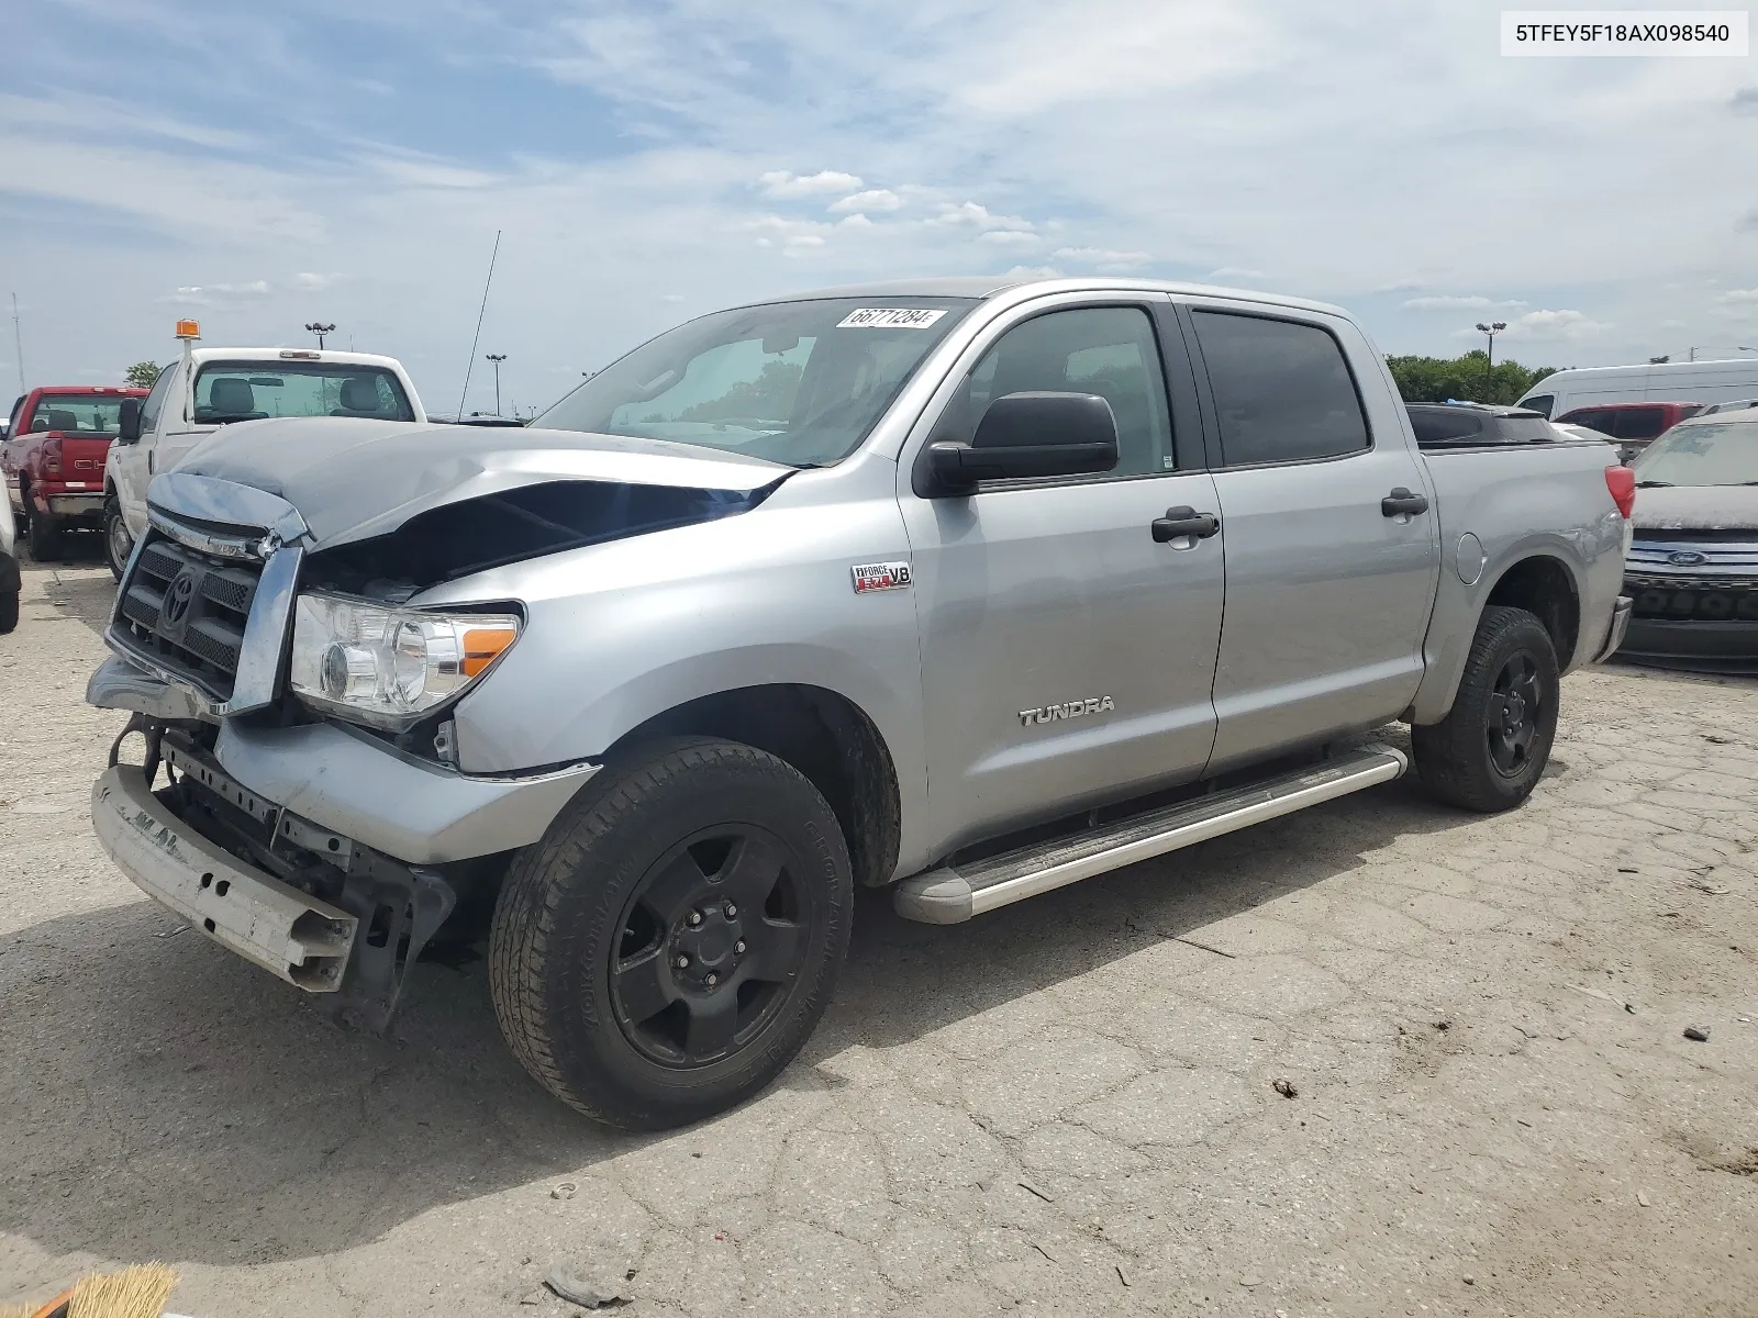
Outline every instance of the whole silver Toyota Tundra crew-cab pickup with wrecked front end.
{"label": "whole silver Toyota Tundra crew-cab pickup with wrecked front end", "polygon": [[636,1128],[781,1072],[856,886],[965,921],[1396,778],[1398,719],[1519,805],[1630,610],[1603,443],[1424,453],[1347,313],[1262,293],[802,293],[524,431],[253,429],[151,485],[98,838],[366,1028],[485,937],[519,1060]]}

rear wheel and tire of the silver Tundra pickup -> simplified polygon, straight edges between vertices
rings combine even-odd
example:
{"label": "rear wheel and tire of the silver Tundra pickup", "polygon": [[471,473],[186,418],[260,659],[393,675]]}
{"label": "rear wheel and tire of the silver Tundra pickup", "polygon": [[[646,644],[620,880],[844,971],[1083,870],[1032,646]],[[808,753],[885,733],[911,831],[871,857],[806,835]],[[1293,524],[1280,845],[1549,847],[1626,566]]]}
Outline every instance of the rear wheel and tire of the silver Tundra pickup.
{"label": "rear wheel and tire of the silver Tundra pickup", "polygon": [[1512,810],[1551,759],[1559,696],[1544,624],[1524,608],[1486,608],[1452,710],[1410,731],[1422,786],[1463,810]]}

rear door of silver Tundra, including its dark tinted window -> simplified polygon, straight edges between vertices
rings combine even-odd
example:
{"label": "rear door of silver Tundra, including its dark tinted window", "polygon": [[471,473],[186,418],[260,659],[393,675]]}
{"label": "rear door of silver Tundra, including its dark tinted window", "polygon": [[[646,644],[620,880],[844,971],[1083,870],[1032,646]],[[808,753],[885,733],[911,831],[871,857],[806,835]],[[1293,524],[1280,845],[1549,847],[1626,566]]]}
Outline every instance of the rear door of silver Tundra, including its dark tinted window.
{"label": "rear door of silver Tundra, including its dark tinted window", "polygon": [[1427,473],[1361,330],[1250,304],[1185,315],[1227,545],[1213,771],[1403,712],[1440,554]]}

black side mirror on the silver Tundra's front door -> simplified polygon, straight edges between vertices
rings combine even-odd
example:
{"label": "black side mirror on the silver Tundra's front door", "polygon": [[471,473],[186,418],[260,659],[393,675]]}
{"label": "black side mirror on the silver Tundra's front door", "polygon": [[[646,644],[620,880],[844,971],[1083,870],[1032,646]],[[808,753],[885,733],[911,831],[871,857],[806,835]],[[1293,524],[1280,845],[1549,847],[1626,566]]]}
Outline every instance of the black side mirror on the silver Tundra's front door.
{"label": "black side mirror on the silver Tundra's front door", "polygon": [[1116,467],[1116,416],[1097,394],[1007,394],[990,402],[969,445],[928,446],[935,494],[984,480],[1085,476]]}

